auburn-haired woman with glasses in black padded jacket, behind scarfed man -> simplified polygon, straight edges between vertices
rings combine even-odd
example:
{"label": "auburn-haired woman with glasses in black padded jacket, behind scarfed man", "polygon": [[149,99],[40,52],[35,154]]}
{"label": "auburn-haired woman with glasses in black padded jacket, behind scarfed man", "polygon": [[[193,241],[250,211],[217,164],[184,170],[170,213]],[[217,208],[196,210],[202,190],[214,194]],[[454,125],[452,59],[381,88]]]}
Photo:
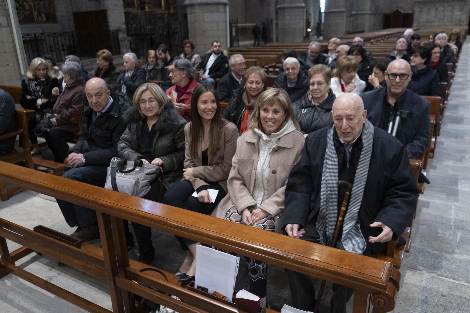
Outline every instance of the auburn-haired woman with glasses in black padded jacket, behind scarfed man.
{"label": "auburn-haired woman with glasses in black padded jacket, behind scarfed man", "polygon": [[317,64],[308,70],[309,90],[294,102],[294,114],[300,131],[306,136],[328,126],[333,120],[331,110],[336,95],[331,90],[331,70],[324,64]]}

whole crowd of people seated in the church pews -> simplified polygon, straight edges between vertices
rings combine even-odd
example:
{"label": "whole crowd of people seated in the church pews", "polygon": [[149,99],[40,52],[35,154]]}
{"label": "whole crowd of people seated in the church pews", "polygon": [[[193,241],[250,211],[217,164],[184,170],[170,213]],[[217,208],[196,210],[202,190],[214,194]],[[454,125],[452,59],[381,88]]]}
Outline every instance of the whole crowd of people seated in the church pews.
{"label": "whole crowd of people seated in the church pews", "polygon": [[[460,31],[450,36],[457,47],[460,37]],[[243,55],[227,59],[218,40],[202,58],[189,40],[174,58],[162,45],[148,51],[141,67],[137,55],[126,53],[121,72],[110,51],[100,50],[91,79],[75,55],[65,58],[60,82],[53,60],[35,58],[20,104],[35,110],[32,153],[40,153],[39,134],[55,162],[70,167],[65,178],[104,187],[114,157],[141,161],[158,168],[142,198],[313,243],[331,242],[345,195],[337,181],[353,183],[337,248],[369,255],[392,238],[402,244],[415,212],[418,190],[408,158],[422,155],[430,136],[430,102],[421,95],[441,95],[446,63],[457,55],[445,33],[432,39],[421,43],[407,31],[383,60],[374,60],[360,37],[351,47],[333,38],[324,51],[312,41],[299,57],[294,49],[282,53],[274,88],[266,87],[265,69],[246,69]],[[228,102],[225,110],[220,102]],[[394,125],[401,111],[412,115]],[[1,135],[15,129],[13,99],[1,89],[0,113]],[[69,148],[78,132],[74,117],[81,117],[81,133]],[[0,141],[0,155],[14,142]],[[214,198],[209,189],[217,190]],[[57,203],[67,224],[77,227],[72,237],[99,238],[95,211]],[[152,230],[132,227],[139,261],[150,264]],[[175,274],[190,282],[200,243],[176,239],[186,258]],[[267,264],[246,263],[250,291],[266,306]],[[312,309],[310,277],[287,275],[293,305]],[[351,290],[332,289],[331,312],[345,312]]]}

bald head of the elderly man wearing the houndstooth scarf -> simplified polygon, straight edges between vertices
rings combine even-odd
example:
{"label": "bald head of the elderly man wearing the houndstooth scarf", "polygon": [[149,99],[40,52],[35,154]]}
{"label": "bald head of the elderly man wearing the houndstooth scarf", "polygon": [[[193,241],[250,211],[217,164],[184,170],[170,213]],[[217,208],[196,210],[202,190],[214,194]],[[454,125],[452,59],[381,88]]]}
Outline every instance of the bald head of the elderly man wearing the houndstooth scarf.
{"label": "bald head of the elderly man wearing the houndstooth scarf", "polygon": [[338,137],[346,142],[354,141],[366,122],[367,111],[364,102],[357,94],[340,94],[333,103],[331,111]]}

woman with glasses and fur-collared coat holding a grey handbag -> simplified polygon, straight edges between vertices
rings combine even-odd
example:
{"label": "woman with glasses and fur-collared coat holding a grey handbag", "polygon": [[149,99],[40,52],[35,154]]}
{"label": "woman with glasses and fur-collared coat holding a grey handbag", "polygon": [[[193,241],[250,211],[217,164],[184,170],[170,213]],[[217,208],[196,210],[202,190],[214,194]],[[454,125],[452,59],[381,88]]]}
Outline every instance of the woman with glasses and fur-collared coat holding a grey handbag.
{"label": "woman with glasses and fur-collared coat holding a grey handbag", "polygon": [[[135,90],[133,107],[125,112],[124,121],[127,129],[118,142],[118,157],[160,167],[163,173],[157,175],[143,198],[162,202],[166,190],[183,176],[186,121],[154,83],[144,83]],[[155,258],[152,230],[135,222],[132,227],[139,245],[139,261],[150,264]]]}

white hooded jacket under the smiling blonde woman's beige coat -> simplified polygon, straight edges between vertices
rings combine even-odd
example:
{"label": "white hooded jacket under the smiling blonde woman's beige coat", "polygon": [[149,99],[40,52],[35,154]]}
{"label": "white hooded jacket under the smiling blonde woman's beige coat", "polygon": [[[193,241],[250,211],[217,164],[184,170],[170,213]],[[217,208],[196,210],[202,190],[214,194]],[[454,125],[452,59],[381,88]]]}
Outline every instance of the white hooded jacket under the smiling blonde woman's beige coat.
{"label": "white hooded jacket under the smiling blonde woman's beige coat", "polygon": [[255,186],[253,188],[252,197],[260,205],[267,199],[268,183],[269,183],[269,169],[271,163],[271,152],[277,147],[279,138],[295,131],[296,128],[292,120],[289,120],[282,129],[277,133],[272,133],[267,136],[259,129],[255,128],[254,132],[258,134],[258,165],[256,166]]}

